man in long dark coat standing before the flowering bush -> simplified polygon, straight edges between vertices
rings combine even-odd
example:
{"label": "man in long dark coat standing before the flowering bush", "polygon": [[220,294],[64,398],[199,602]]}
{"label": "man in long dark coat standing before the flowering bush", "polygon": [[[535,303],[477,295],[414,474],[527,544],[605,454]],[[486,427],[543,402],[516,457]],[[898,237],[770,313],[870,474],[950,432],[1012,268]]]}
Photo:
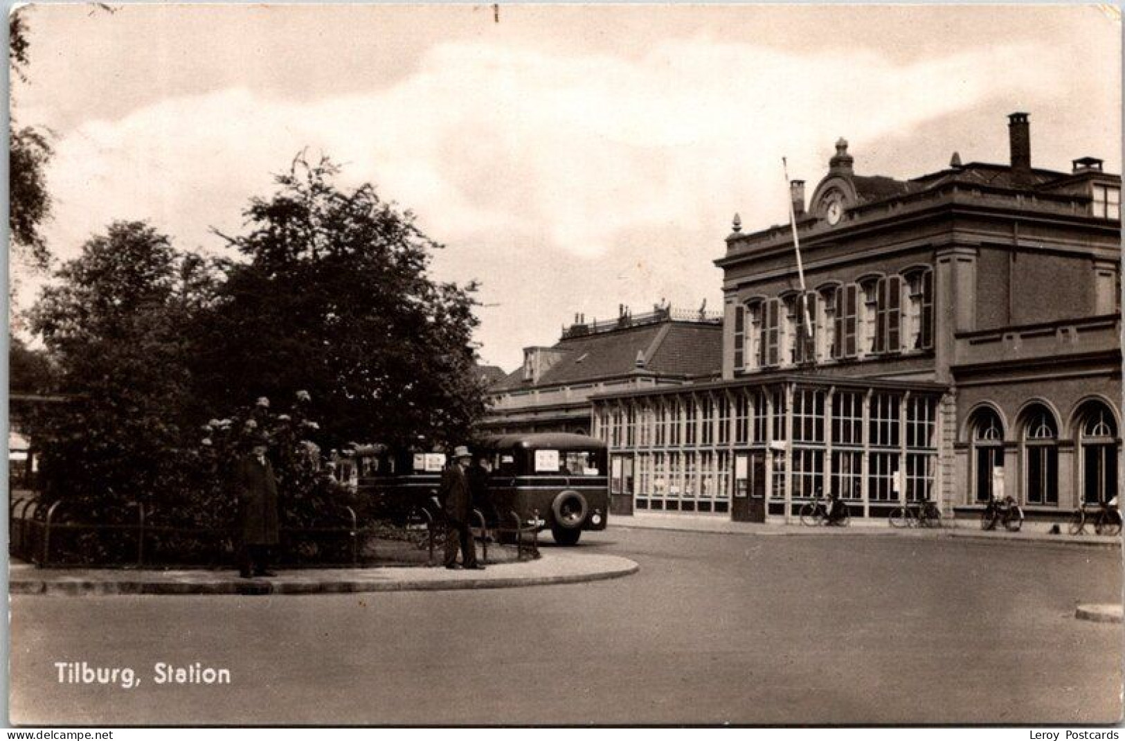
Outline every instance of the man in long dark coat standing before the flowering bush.
{"label": "man in long dark coat standing before the flowering bush", "polygon": [[256,439],[250,454],[238,461],[234,488],[242,521],[242,566],[240,574],[276,577],[269,570],[270,548],[278,544],[278,484],[266,452],[264,439]]}

